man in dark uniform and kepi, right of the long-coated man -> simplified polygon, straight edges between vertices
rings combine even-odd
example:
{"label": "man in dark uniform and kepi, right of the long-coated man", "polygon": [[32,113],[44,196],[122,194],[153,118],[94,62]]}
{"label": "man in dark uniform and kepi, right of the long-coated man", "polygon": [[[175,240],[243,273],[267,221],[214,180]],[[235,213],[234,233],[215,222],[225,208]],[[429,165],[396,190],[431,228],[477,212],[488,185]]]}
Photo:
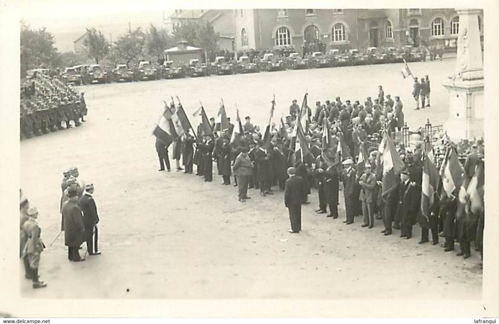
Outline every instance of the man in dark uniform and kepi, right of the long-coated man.
{"label": "man in dark uniform and kepi, right of the long-coated man", "polygon": [[85,186],[85,193],[80,198],[79,204],[83,212],[83,223],[85,225],[85,239],[87,242],[87,251],[89,255],[100,254],[98,252],[98,229],[99,215],[97,214],[97,206],[92,197],[94,186],[92,183]]}

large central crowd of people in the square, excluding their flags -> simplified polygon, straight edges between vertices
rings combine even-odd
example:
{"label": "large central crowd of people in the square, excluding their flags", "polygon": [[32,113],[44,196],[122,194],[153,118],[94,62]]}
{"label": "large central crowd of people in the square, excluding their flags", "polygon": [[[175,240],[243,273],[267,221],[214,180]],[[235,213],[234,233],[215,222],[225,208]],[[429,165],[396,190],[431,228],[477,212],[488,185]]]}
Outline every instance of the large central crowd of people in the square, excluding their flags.
{"label": "large central crowd of people in the square, excluding their flags", "polygon": [[[431,230],[433,244],[438,244],[440,234],[446,238],[446,242],[442,246],[446,251],[452,251],[454,250],[454,241],[458,239],[462,242],[459,255],[468,258],[471,255],[470,241],[476,240],[477,249],[481,247],[483,212],[482,215],[464,217],[458,221],[455,217],[458,204],[456,196],[445,193],[440,195],[439,193],[435,197],[436,203],[432,217],[429,219],[421,217],[418,212],[420,210],[422,182],[423,149],[421,144],[417,144],[412,152],[406,149],[402,143],[396,143],[399,154],[406,163],[406,169],[400,175],[397,188],[386,197],[381,195],[382,161],[379,160],[376,145],[367,149],[368,161],[365,162],[365,168],[361,172],[357,172],[356,157],[359,155],[361,146],[367,148],[371,142],[375,143],[379,140],[379,134],[383,131],[395,133],[396,129],[399,128],[391,126],[390,123],[394,120],[392,107],[395,106],[395,110],[399,111],[402,109],[400,98],[396,97],[396,100],[390,103],[391,98],[387,96],[387,100],[383,101],[385,107],[383,110],[378,107],[381,106],[379,99],[375,99],[372,106],[369,103],[366,104],[371,108],[372,114],[366,112],[365,107],[360,107],[358,102],[350,105],[350,101],[347,100],[345,104],[342,104],[339,97],[336,98],[336,104],[326,101],[326,105],[320,105],[320,102],[317,102],[315,112],[312,114],[310,109],[308,111],[310,125],[307,128],[305,140],[310,155],[305,156],[304,161],[301,161],[301,158],[296,161],[295,150],[290,138],[290,130],[295,127],[296,118],[300,112],[299,107],[296,109],[296,100],[293,100],[290,107],[290,116],[286,118],[286,122],[282,121],[284,125],[278,129],[272,125],[269,143],[263,141],[259,128],[251,124],[250,116],[246,117],[246,123],[242,125],[244,134],[237,145],[231,143],[234,140],[231,136],[234,125],[230,124],[228,129],[216,132],[217,125],[215,119],[212,118],[210,126],[214,135],[203,135],[201,129],[198,128],[197,137],[193,137],[187,132],[182,139],[177,139],[174,142],[173,151],[177,170],[182,170],[180,166],[182,158],[185,173],[193,173],[193,164],[196,164],[196,174],[204,176],[205,181],[212,181],[213,162],[216,162],[218,174],[222,176],[222,184],[231,184],[231,176],[234,174],[234,185],[239,186],[239,200],[246,202],[250,198],[248,188],[258,189],[261,196],[273,194],[273,186],[278,186],[279,190],[283,191],[288,178],[286,171],[289,167],[294,166],[296,175],[304,179],[305,188],[302,203],[309,202],[308,194],[310,194],[311,188],[318,190],[317,213],[327,213],[327,208],[329,208],[327,217],[338,218],[339,183],[342,182],[346,211],[344,222],[346,224],[352,224],[356,216],[362,215],[362,227],[371,229],[375,226],[375,220],[382,220],[384,225],[382,233],[384,235],[392,234],[393,229],[400,229],[401,237],[409,239],[413,235],[413,225],[419,223],[422,228],[420,243],[429,241],[429,230]],[[339,111],[338,114],[336,110]],[[358,110],[355,117],[352,114],[354,110]],[[381,112],[378,112],[379,110]],[[364,116],[362,116],[362,112],[365,112]],[[346,115],[346,113],[348,113],[348,119],[341,118],[341,115]],[[324,153],[327,153],[327,150],[336,152],[336,148],[323,149],[322,147],[322,127],[324,124],[318,123],[318,120],[326,116],[331,118],[329,119],[331,121],[329,131],[333,135],[331,138],[333,146],[339,145],[339,136],[341,135],[351,153],[350,155],[354,157],[344,160],[341,163],[342,167],[339,167],[338,162],[331,165],[324,159]],[[157,141],[157,149],[158,143]],[[159,143],[159,147],[161,146]],[[164,145],[162,150],[166,152],[166,156],[160,155],[158,152],[160,162],[167,162],[168,169],[170,169],[167,148]],[[483,143],[479,142],[478,147],[474,145],[472,151],[463,161],[471,173],[473,173],[474,170],[471,169],[477,164],[477,161],[483,158]],[[437,154],[437,165],[442,163],[443,158],[443,152]],[[163,164],[160,170],[162,169],[164,169]],[[475,221],[469,223],[469,219]]]}

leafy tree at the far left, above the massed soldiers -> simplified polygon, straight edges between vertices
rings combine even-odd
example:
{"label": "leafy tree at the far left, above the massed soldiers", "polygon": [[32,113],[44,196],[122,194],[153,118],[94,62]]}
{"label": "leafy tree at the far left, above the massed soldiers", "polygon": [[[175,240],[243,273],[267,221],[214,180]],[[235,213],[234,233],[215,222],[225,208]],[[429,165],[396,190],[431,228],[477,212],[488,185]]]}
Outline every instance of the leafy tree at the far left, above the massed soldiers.
{"label": "leafy tree at the far left, above the massed soldiers", "polygon": [[27,70],[36,68],[55,69],[60,65],[60,56],[55,47],[52,33],[45,28],[30,29],[21,23],[20,31],[20,68],[21,76]]}

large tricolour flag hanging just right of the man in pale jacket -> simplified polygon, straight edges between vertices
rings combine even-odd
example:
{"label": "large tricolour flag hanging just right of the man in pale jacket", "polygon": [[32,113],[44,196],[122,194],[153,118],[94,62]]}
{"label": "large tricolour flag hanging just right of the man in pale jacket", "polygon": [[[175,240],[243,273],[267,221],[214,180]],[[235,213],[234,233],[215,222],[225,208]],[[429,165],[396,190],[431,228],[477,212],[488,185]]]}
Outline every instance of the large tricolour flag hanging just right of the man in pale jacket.
{"label": "large tricolour flag hanging just right of the man in pale jacket", "polygon": [[382,196],[386,196],[397,187],[397,177],[405,169],[405,164],[387,133],[384,135],[384,141],[386,145],[383,152]]}

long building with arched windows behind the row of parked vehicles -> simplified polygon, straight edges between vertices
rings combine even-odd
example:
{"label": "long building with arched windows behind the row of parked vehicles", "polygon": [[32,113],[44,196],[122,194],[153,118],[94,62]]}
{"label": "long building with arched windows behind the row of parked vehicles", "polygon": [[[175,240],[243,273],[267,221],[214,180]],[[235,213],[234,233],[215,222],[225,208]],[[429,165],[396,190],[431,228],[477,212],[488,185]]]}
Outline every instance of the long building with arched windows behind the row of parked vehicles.
{"label": "long building with arched windows behind the row of parked vehicles", "polygon": [[[235,49],[455,48],[455,9],[233,9]],[[479,19],[483,37],[483,10]]]}

